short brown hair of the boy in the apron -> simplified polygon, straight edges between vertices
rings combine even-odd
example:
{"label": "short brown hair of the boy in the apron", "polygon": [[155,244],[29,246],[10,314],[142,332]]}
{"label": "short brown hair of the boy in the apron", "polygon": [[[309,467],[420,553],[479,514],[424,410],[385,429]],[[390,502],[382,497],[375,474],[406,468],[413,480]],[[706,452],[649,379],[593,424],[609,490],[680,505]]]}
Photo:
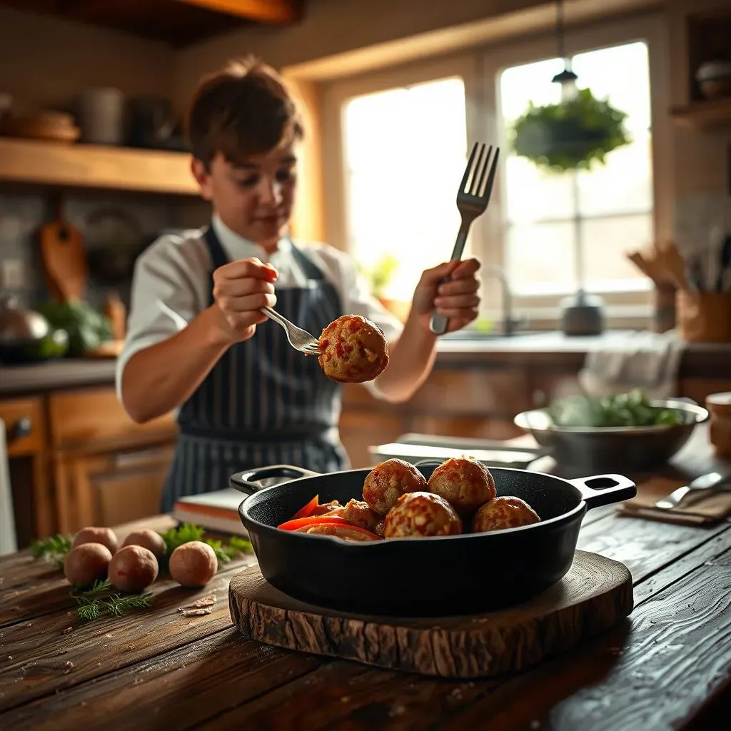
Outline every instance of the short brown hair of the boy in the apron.
{"label": "short brown hair of the boy in the apron", "polygon": [[254,56],[203,77],[188,113],[191,151],[206,167],[216,154],[236,163],[301,139],[302,121],[284,81]]}

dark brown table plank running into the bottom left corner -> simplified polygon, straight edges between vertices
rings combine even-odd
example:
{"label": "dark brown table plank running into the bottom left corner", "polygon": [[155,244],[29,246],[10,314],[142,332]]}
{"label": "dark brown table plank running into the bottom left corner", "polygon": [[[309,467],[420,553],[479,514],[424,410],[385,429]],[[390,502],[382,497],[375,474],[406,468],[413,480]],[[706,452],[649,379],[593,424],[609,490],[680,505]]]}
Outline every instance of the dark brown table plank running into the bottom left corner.
{"label": "dark brown table plank running into the bottom left corner", "polygon": [[290,683],[324,661],[245,640],[235,629],[108,673],[0,715],[13,731],[195,727],[217,711]]}

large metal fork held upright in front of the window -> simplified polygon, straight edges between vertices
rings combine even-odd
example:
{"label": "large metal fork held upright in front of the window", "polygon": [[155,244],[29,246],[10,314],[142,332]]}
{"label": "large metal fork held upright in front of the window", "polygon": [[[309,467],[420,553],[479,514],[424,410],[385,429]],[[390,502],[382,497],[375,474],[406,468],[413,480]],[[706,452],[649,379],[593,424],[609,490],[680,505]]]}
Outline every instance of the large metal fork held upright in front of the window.
{"label": "large metal fork held upright in front of the window", "polygon": [[[457,234],[457,240],[455,242],[455,248],[452,250],[452,261],[459,260],[462,258],[462,251],[467,240],[467,234],[469,233],[469,227],[472,221],[485,213],[485,209],[488,207],[490,201],[490,194],[493,191],[493,181],[495,181],[495,173],[498,168],[498,157],[500,155],[500,148],[495,148],[495,154],[491,160],[491,154],[493,146],[490,145],[488,148],[488,154],[485,156],[485,143],[482,143],[480,147],[480,155],[477,156],[477,162],[474,162],[474,156],[477,154],[477,143],[474,143],[472,153],[467,161],[467,167],[464,170],[462,182],[459,186],[457,193],[457,208],[462,216],[462,224]],[[485,162],[482,162],[482,156],[485,156]],[[490,173],[488,174],[487,182],[485,182],[485,174],[488,172],[488,164],[490,167]],[[479,175],[479,177],[478,177]],[[467,183],[469,181],[469,188]],[[448,278],[444,279],[445,282],[450,281]],[[444,335],[447,332],[450,321],[447,317],[437,314],[436,308],[434,308],[429,322],[429,330],[435,335]]]}

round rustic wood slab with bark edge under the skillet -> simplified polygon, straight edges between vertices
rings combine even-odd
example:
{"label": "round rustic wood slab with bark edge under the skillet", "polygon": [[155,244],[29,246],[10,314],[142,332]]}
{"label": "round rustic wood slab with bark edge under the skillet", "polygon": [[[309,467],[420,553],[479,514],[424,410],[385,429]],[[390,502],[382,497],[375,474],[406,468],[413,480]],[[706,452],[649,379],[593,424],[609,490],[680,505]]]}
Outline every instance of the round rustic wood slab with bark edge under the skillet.
{"label": "round rustic wood slab with bark edge under the skillet", "polygon": [[258,566],[229,586],[233,623],[246,637],[290,650],[444,678],[515,673],[575,647],[632,612],[624,564],[578,550],[560,582],[529,602],[477,616],[359,616],[298,602]]}

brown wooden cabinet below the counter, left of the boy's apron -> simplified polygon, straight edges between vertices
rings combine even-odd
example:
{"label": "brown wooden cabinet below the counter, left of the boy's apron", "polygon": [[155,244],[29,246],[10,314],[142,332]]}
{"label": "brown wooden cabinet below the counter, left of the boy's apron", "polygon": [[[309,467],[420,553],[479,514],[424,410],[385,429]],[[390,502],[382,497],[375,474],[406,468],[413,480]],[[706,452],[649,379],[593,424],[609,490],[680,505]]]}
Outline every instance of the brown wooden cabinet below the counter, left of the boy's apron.
{"label": "brown wooden cabinet below the counter, left of the boy's apron", "polygon": [[3,400],[0,418],[20,548],[159,512],[177,438],[173,414],[136,424],[103,386]]}

